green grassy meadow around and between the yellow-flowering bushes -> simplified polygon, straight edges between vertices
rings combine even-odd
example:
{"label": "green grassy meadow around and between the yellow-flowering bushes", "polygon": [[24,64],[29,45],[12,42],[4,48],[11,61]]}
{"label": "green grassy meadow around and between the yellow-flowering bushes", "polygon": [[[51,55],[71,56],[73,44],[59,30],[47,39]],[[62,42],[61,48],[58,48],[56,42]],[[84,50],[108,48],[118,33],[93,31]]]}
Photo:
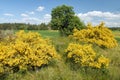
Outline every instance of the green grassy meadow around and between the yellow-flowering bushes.
{"label": "green grassy meadow around and between the yellow-flowering bushes", "polygon": [[101,49],[94,46],[98,54],[108,57],[111,62],[107,71],[78,68],[75,65],[66,63],[64,50],[71,42],[67,37],[60,37],[58,31],[35,31],[39,32],[44,38],[50,38],[61,59],[50,63],[49,66],[38,71],[18,72],[0,78],[0,80],[120,80],[120,32],[114,31],[113,34],[118,41],[118,46],[112,49]]}

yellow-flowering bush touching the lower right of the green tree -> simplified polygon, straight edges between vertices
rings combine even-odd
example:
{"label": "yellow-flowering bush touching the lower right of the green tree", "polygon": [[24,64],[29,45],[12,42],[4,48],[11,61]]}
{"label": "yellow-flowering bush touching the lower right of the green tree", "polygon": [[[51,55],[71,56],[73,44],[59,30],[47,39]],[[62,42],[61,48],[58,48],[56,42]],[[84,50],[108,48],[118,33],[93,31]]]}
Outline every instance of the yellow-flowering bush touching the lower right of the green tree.
{"label": "yellow-flowering bush touching the lower right of the green tree", "polygon": [[105,27],[103,22],[97,26],[88,24],[86,29],[80,31],[74,29],[71,37],[78,41],[95,43],[100,47],[113,48],[117,46],[112,32]]}

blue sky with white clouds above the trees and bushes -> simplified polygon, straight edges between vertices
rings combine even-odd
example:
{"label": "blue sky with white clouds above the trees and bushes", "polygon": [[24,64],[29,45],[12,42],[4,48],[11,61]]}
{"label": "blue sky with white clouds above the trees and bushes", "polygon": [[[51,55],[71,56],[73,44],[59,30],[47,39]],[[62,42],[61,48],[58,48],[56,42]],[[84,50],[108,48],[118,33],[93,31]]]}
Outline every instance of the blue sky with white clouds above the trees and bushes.
{"label": "blue sky with white clouds above the trees and bushes", "polygon": [[120,0],[0,0],[0,23],[48,23],[52,8],[62,4],[73,6],[85,23],[120,26]]}

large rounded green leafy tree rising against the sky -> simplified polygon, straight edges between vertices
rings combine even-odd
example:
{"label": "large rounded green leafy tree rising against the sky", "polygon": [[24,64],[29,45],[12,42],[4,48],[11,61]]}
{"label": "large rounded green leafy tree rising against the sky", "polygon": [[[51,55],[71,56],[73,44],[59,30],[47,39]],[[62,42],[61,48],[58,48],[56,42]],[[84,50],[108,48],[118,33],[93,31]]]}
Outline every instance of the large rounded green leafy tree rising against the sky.
{"label": "large rounded green leafy tree rising against the sky", "polygon": [[60,30],[61,35],[68,36],[72,34],[74,28],[82,29],[84,23],[75,16],[73,7],[67,5],[57,6],[52,9],[51,28]]}

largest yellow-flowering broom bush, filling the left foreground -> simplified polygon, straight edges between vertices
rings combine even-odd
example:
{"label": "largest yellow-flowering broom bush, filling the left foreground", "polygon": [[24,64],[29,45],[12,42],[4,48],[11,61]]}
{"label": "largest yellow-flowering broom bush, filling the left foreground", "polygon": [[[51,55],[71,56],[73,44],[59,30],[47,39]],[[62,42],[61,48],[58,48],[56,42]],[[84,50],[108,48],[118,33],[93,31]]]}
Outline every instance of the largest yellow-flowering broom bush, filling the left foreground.
{"label": "largest yellow-flowering broom bush, filling the left foreground", "polygon": [[19,70],[41,67],[57,57],[55,48],[39,33],[19,31],[15,35],[12,42],[0,42],[0,72],[5,67]]}

